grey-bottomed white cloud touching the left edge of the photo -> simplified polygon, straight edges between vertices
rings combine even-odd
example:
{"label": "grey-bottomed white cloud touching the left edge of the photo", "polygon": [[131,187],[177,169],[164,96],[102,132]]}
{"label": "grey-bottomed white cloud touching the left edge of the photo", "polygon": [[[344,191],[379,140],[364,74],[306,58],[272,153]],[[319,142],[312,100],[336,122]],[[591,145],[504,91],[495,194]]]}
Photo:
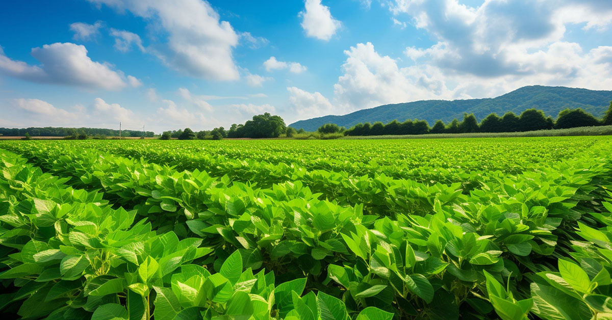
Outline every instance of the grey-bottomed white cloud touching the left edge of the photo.
{"label": "grey-bottomed white cloud touching the left edge of the photo", "polygon": [[[34,48],[32,56],[40,66],[13,61],[0,50],[0,73],[38,83],[68,84],[90,89],[117,90],[127,86],[121,71],[111,65],[92,61],[83,45],[53,43]],[[133,80],[128,80],[134,83]]]}

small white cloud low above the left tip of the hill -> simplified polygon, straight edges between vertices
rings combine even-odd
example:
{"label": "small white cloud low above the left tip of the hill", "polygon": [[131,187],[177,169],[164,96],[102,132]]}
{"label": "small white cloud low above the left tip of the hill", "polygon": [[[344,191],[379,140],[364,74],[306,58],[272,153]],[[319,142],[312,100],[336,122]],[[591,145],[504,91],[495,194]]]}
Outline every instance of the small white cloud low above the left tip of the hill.
{"label": "small white cloud low above the left tip of the hill", "polygon": [[[294,111],[294,119],[326,116],[330,113],[338,113],[332,103],[327,100],[320,92],[310,93],[297,87],[287,87],[289,92],[289,104]],[[289,121],[288,123],[293,122]]]}

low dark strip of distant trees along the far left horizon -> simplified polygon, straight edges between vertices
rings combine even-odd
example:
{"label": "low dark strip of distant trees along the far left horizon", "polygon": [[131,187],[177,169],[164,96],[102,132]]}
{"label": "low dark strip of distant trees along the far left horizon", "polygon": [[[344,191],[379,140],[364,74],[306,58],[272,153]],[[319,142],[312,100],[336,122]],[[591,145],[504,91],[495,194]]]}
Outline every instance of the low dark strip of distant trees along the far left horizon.
{"label": "low dark strip of distant trees along the far left horizon", "polygon": [[[119,136],[119,130],[103,128],[63,128],[63,127],[29,127],[29,128],[0,128],[3,136],[76,136],[83,133],[88,136]],[[154,136],[154,132],[144,132],[146,137]],[[139,130],[121,130],[121,136],[143,136]]]}

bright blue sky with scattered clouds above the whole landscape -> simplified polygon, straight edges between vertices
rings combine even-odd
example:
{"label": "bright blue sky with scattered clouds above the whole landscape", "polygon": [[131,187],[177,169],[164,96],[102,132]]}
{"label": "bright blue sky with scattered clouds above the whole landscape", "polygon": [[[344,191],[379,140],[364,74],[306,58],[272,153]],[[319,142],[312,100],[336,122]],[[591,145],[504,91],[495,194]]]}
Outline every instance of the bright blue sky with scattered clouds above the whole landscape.
{"label": "bright blue sky with scattered clouds above the whole landscape", "polygon": [[63,0],[0,10],[0,127],[210,130],[612,89],[610,0]]}

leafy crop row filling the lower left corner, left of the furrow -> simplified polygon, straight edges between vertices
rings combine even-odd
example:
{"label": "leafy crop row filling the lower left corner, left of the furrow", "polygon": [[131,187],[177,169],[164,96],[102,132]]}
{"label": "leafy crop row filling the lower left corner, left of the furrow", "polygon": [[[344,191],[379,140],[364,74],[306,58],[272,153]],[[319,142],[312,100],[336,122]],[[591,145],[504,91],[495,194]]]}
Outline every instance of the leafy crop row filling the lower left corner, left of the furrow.
{"label": "leafy crop row filling the lower left corner, left of the furrow", "polygon": [[[203,266],[214,264],[213,250],[202,239],[156,232],[99,192],[67,187],[6,152],[0,160],[5,312],[24,319],[349,319],[339,299],[302,296],[305,278],[275,286],[273,272],[245,269],[239,251],[211,273]],[[355,315],[393,316],[373,307]]]}

